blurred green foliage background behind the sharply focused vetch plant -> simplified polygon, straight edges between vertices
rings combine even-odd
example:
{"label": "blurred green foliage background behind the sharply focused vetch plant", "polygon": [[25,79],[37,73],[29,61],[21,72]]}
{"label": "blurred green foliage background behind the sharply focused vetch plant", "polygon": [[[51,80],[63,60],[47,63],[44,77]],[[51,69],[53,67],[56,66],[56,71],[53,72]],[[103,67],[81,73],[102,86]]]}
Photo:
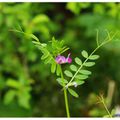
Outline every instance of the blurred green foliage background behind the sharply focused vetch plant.
{"label": "blurred green foliage background behind the sharply focused vetch plant", "polygon": [[[120,3],[0,3],[0,117],[65,117],[56,76],[31,40],[11,31],[19,25],[44,42],[63,39],[72,58],[79,57],[96,47],[96,29],[100,41],[105,29],[120,30]],[[120,35],[116,38],[98,51],[92,76],[77,88],[80,97],[68,96],[72,117],[105,115],[96,104],[100,92],[110,110],[120,104]]]}

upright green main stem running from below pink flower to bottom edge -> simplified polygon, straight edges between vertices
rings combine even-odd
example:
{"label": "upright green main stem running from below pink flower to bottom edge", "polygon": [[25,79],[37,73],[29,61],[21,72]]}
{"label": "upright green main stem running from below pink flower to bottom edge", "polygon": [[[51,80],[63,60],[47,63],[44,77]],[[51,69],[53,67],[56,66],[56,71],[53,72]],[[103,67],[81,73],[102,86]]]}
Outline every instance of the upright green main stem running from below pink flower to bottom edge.
{"label": "upright green main stem running from below pink flower to bottom edge", "polygon": [[[62,78],[62,80],[64,81],[62,69],[61,69],[61,78]],[[63,83],[64,83],[64,82],[63,82]],[[65,107],[66,107],[67,117],[70,118],[69,105],[68,105],[68,97],[67,97],[67,90],[66,90],[66,88],[65,88],[65,84],[64,84],[64,86],[63,86],[63,91],[64,91],[64,99],[65,99]]]}

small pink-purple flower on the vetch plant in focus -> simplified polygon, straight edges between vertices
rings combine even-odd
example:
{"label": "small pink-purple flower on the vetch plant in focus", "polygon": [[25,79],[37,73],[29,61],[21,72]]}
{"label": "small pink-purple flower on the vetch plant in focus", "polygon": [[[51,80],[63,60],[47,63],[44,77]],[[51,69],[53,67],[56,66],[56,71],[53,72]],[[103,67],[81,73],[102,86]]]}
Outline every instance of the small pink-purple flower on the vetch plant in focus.
{"label": "small pink-purple flower on the vetch plant in focus", "polygon": [[68,54],[67,58],[65,58],[64,56],[58,55],[55,58],[55,60],[58,64],[71,63],[72,62],[72,59],[70,58],[70,53]]}

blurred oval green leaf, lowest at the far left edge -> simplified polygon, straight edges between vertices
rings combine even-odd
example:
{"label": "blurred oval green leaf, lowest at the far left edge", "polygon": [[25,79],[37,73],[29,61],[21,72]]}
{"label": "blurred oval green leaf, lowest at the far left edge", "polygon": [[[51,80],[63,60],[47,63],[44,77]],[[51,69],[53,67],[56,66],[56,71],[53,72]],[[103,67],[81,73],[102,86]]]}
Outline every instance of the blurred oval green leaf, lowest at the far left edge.
{"label": "blurred oval green leaf, lowest at the far left edge", "polygon": [[8,105],[9,103],[11,103],[15,95],[16,95],[16,91],[9,90],[4,96],[4,104]]}

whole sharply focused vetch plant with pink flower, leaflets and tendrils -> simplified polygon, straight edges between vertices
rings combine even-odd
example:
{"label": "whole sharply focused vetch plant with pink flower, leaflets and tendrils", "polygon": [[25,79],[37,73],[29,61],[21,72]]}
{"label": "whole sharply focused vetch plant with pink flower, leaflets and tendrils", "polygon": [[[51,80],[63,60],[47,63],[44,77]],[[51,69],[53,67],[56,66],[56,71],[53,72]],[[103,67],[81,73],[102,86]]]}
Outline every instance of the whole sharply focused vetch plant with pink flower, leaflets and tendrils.
{"label": "whole sharply focused vetch plant with pink flower, leaflets and tendrils", "polygon": [[[78,93],[75,91],[75,88],[84,84],[85,80],[89,78],[89,76],[92,74],[89,68],[94,66],[96,60],[100,57],[98,54],[96,54],[96,51],[103,45],[112,41],[115,35],[118,33],[106,31],[107,36],[103,40],[103,42],[100,43],[97,30],[97,47],[91,52],[91,54],[88,54],[86,50],[82,50],[81,55],[84,58],[84,61],[82,61],[79,56],[75,57],[72,60],[72,58],[70,57],[71,53],[69,53],[67,57],[63,56],[63,53],[65,53],[69,49],[67,46],[64,45],[65,43],[63,40],[58,41],[53,37],[50,42],[42,43],[33,34],[27,34],[19,30],[14,31],[27,35],[28,37],[33,39],[32,42],[43,54],[41,60],[45,64],[50,64],[51,72],[57,75],[56,81],[62,87],[62,90],[64,92],[67,117],[70,117],[68,93],[70,93],[73,97],[79,97]],[[75,64],[73,64],[72,61],[75,61]],[[62,64],[70,64],[70,66],[67,70],[63,70]]]}

